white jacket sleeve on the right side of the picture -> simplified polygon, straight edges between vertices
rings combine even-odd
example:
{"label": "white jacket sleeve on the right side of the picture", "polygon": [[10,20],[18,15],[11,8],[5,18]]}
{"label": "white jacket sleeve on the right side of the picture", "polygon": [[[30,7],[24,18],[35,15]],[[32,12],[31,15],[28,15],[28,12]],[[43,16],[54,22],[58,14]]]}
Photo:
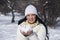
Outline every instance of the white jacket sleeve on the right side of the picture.
{"label": "white jacket sleeve on the right side of the picture", "polygon": [[45,40],[45,38],[46,38],[46,29],[45,29],[44,25],[42,25],[42,24],[39,25],[39,30],[38,30],[37,35],[38,35],[39,40]]}

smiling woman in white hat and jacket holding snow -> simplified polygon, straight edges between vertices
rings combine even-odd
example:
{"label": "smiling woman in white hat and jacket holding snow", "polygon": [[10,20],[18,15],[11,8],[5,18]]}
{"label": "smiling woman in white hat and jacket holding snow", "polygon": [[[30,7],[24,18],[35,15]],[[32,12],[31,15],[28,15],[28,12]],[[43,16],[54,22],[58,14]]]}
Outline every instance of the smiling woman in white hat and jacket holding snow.
{"label": "smiling woman in white hat and jacket holding snow", "polygon": [[45,25],[39,19],[37,9],[33,5],[26,7],[25,18],[18,24],[17,40],[45,40]]}

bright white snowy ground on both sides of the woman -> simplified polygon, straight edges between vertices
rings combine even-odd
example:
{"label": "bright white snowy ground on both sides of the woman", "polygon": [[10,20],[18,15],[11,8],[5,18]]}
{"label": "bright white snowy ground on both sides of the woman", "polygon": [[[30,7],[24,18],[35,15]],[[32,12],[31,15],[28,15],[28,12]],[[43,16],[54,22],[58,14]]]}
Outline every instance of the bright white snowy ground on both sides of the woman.
{"label": "bright white snowy ground on both sides of the woman", "polygon": [[[0,40],[16,40],[17,22],[22,16],[16,16],[15,23],[11,23],[11,16],[0,16]],[[50,40],[60,40],[60,27],[49,28]]]}

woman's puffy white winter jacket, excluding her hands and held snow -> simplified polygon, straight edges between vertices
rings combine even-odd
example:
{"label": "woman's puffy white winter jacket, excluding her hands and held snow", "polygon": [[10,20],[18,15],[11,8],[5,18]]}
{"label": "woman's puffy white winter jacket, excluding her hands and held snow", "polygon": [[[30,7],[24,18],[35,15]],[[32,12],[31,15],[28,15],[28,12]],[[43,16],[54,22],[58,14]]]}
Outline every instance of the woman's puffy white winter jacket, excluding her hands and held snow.
{"label": "woman's puffy white winter jacket, excluding her hands and held snow", "polygon": [[[26,22],[22,22],[17,29],[17,40],[27,40],[25,36],[23,36],[20,33],[20,29],[21,27],[27,26]],[[38,35],[39,40],[45,40],[46,38],[46,29],[44,27],[43,24],[39,23],[37,25],[34,25],[35,27],[33,27],[33,32],[35,32]],[[33,40],[33,38],[32,38]]]}

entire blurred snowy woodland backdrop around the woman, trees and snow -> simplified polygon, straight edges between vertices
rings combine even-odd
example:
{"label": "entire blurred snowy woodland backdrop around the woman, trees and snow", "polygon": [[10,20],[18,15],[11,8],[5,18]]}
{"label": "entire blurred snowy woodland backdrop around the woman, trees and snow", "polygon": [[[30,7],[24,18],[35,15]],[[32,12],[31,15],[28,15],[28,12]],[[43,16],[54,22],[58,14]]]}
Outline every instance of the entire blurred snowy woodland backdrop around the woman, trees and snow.
{"label": "entire blurred snowy woodland backdrop around the woman, trees and snow", "polygon": [[0,40],[16,40],[18,21],[29,4],[47,25],[49,40],[60,40],[60,0],[0,0]]}

